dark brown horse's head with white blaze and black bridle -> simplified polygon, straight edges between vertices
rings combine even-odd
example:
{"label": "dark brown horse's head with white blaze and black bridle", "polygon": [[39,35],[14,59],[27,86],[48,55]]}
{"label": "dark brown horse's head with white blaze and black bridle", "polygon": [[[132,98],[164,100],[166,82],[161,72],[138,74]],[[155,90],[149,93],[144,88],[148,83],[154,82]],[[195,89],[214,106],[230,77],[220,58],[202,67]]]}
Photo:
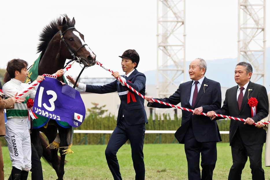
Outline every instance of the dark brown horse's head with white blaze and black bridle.
{"label": "dark brown horse's head with white blaze and black bridle", "polygon": [[74,25],[74,17],[71,22],[67,22],[64,17],[62,25],[58,26],[61,36],[61,54],[66,59],[75,58],[77,62],[84,66],[93,66],[95,65],[96,55],[84,42],[84,35],[77,31]]}

